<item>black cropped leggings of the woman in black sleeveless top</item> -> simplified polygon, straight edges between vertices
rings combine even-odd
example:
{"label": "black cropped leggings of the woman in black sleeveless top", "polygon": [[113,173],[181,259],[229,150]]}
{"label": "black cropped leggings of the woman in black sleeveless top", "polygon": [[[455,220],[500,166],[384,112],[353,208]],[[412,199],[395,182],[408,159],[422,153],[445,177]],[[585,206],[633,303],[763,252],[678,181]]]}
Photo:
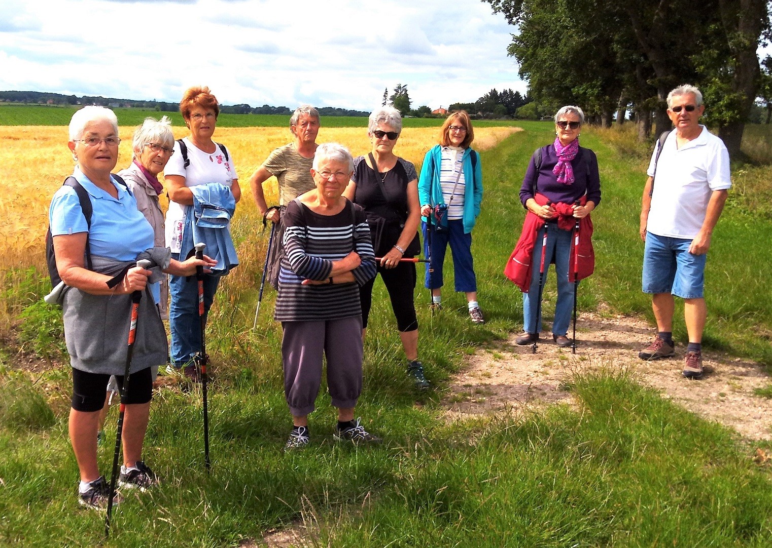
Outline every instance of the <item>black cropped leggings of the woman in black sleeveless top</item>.
{"label": "black cropped leggings of the woman in black sleeveless top", "polygon": [[[378,273],[391,298],[391,310],[397,318],[397,329],[401,333],[418,329],[418,319],[415,318],[415,264],[400,263],[394,268],[378,266]],[[367,317],[373,301],[373,284],[375,278],[367,281],[359,288],[359,300],[362,304],[362,327],[367,327]]]}

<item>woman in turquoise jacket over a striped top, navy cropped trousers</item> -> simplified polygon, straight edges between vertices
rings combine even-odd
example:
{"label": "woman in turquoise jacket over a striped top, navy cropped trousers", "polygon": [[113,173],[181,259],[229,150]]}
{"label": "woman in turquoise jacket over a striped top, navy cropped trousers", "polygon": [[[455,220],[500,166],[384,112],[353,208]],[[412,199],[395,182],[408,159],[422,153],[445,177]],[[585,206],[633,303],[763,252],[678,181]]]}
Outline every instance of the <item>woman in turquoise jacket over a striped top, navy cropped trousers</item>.
{"label": "woman in turquoise jacket over a striped top, navy cropped trousers", "polygon": [[418,178],[424,220],[426,287],[432,290],[432,310],[442,310],[442,263],[450,244],[455,291],[466,293],[469,318],[482,324],[477,302],[477,277],[472,264],[472,228],[482,203],[482,168],[472,150],[472,120],[464,110],[451,113],[440,131],[440,142],[426,153]]}

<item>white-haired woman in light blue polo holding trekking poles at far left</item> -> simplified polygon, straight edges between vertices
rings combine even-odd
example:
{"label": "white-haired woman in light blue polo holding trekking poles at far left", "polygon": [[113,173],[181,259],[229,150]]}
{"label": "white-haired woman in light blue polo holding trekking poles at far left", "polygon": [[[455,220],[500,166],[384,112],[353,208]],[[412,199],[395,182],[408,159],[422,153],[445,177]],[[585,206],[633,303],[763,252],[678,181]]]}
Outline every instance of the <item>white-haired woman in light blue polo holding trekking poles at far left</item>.
{"label": "white-haired woman in light blue polo holding trekking poles at far left", "polygon": [[[135,266],[151,257],[164,271],[195,274],[196,266],[212,261],[191,258],[179,263],[168,250],[154,247],[153,227],[137,209],[134,195],[111,175],[118,160],[118,122],[112,110],[86,106],[69,123],[69,150],[76,162],[73,175],[56,191],[49,223],[62,282],[46,296],[63,308],[64,337],[73,368],[69,439],[80,470],[78,502],[107,504],[109,487],[97,466],[99,412],[110,375],[124,384],[131,295],[141,291],[134,354],[123,426],[124,466],[119,484],[145,489],[156,482],[142,461],[142,445],[152,397],[151,367],[166,361],[168,346],[148,277]],[[88,200],[88,202],[86,202]],[[90,209],[90,214],[88,210]]]}

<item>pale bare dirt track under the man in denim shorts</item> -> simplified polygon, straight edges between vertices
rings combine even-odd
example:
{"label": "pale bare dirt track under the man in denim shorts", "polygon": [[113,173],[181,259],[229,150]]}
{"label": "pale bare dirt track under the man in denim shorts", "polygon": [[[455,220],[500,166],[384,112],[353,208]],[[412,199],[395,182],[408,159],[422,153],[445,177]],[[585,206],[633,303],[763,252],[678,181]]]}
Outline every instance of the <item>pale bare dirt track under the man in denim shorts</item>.
{"label": "pale bare dirt track under the man in denim shorts", "polygon": [[642,384],[706,419],[730,426],[749,439],[772,439],[772,400],[753,395],[753,388],[770,382],[763,366],[705,351],[703,379],[689,381],[681,375],[682,346],[676,345],[673,359],[638,359],[638,351],[653,335],[644,321],[598,314],[581,314],[576,355],[571,354],[571,348],[557,348],[551,338],[540,341],[533,354],[530,346],[515,345],[517,335],[512,335],[508,341],[493,343],[469,358],[466,368],[452,380],[445,405],[456,415],[519,412],[556,402],[572,403],[571,392],[561,385],[574,372],[626,368]]}

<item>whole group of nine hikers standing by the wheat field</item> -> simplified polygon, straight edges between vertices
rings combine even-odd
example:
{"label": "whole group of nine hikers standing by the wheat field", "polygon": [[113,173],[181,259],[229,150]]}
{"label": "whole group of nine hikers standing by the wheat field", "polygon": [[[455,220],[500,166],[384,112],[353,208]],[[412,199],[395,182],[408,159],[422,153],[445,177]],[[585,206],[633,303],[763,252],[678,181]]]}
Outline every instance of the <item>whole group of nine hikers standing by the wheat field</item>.
{"label": "whole group of nine hikers standing by the wheat field", "polygon": [[[699,89],[684,85],[670,92],[675,130],[659,138],[652,154],[641,212],[643,291],[653,295],[658,334],[639,356],[674,354],[677,295],[685,301],[688,378],[702,375],[703,271],[730,187],[726,147],[699,124],[703,110]],[[229,220],[241,188],[228,148],[212,139],[217,99],[206,87],[192,87],[180,111],[188,136],[175,141],[166,116],[146,119],[134,133],[130,165],[117,175],[112,173],[120,143],[115,114],[86,106],[69,124],[75,167],[49,210],[56,287],[46,300],[63,308],[73,369],[69,437],[80,469],[78,500],[85,506],[120,503],[113,488],[121,444],[120,488],[157,483],[142,460],[155,377],[168,364],[164,372],[201,382],[206,398],[206,318],[220,278],[239,264]],[[535,348],[547,267],[555,265],[552,338],[575,350],[577,284],[594,268],[590,213],[601,201],[601,182],[597,157],[579,145],[582,110],[564,106],[554,119],[555,140],[533,153],[520,187],[527,214],[505,273],[523,291],[523,334],[516,342]],[[274,150],[249,180],[259,213],[273,222],[266,273],[278,290],[274,318],[283,329],[284,391],[293,420],[287,451],[310,443],[308,415],[320,391],[323,357],[337,408],[334,438],[381,441],[354,419],[378,274],[391,300],[406,374],[419,390],[430,383],[418,352],[416,264],[425,263],[433,313],[442,310],[442,265],[450,246],[455,291],[466,294],[469,321],[485,322],[472,261],[482,165],[472,150],[469,115],[457,111],[445,119],[420,175],[394,153],[402,119],[392,107],[371,113],[372,148],[364,156],[353,158],[337,143],[317,144],[319,128],[317,110],[300,106],[289,122],[292,142]],[[158,179],[161,172],[165,185]],[[279,205],[269,207],[262,186],[272,176]],[[164,192],[165,215],[159,202]],[[418,258],[422,250],[424,259]],[[113,486],[108,486],[97,466],[97,432],[111,378],[121,391],[121,412]]]}

